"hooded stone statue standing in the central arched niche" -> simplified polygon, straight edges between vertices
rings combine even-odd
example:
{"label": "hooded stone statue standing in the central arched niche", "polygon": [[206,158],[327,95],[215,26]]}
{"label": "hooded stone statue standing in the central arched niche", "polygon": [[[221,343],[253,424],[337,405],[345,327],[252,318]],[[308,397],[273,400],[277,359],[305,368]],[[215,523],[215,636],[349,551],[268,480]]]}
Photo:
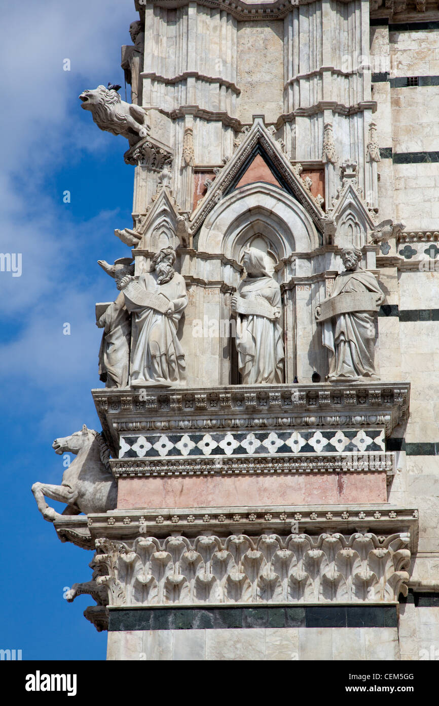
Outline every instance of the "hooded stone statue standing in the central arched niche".
{"label": "hooded stone statue standing in the central arched niche", "polygon": [[282,383],[280,287],[266,271],[261,251],[247,250],[242,264],[247,275],[231,299],[232,311],[237,313],[236,348],[242,384]]}

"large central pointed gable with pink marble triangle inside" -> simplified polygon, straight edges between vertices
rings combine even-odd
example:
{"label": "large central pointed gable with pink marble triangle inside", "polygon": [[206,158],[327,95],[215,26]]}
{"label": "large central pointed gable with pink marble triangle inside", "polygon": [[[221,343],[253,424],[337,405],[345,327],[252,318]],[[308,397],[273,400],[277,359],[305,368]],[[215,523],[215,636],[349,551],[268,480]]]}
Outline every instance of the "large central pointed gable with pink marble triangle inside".
{"label": "large central pointed gable with pink marble triangle inside", "polygon": [[[259,157],[259,159],[257,159]],[[316,229],[323,233],[324,213],[319,203],[312,196],[307,184],[290,164],[287,155],[280,148],[264,126],[261,118],[255,118],[252,128],[245,135],[233,157],[221,169],[206,196],[199,202],[190,218],[192,233],[195,235],[202,227],[204,220],[218,201],[227,196],[238,186],[250,183],[250,177],[259,173],[268,184],[287,191],[307,211]],[[249,181],[242,181],[243,179]],[[242,181],[242,184],[240,182]],[[252,181],[254,181],[252,179]]]}

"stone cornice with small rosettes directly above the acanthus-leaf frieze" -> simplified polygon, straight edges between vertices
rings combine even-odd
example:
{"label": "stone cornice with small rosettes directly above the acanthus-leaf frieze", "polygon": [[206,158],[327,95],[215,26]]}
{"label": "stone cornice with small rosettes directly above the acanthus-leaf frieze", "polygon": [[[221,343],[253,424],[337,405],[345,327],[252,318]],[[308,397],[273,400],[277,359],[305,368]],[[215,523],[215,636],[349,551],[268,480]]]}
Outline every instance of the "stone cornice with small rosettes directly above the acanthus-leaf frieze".
{"label": "stone cornice with small rosettes directly above the acanthus-leaf frieze", "polygon": [[201,534],[280,534],[293,527],[300,534],[352,534],[373,532],[378,536],[404,532],[409,548],[418,546],[418,510],[388,503],[349,505],[258,505],[257,507],[153,508],[111,510],[108,513],[62,517],[54,522],[61,542],[94,549],[100,537],[128,541],[136,537],[197,537]]}

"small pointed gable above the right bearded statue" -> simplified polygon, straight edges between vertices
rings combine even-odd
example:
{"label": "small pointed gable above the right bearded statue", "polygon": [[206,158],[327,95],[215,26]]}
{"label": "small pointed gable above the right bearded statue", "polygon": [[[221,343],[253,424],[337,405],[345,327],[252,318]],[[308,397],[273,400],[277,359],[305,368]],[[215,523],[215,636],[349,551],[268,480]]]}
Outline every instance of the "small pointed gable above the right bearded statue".
{"label": "small pointed gable above the right bearded statue", "polygon": [[340,247],[354,245],[362,248],[367,234],[375,227],[366,203],[353,180],[347,181],[340,192],[332,217],[335,223],[334,244]]}

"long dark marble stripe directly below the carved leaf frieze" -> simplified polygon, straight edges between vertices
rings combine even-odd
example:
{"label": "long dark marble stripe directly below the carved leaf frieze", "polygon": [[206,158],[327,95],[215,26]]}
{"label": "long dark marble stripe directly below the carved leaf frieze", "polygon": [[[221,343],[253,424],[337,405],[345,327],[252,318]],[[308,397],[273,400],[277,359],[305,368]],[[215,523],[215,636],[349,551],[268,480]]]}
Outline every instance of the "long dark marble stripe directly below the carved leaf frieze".
{"label": "long dark marble stripe directly below the carved leaf frieze", "polygon": [[224,628],[396,628],[396,606],[224,606],[116,608],[109,631]]}

